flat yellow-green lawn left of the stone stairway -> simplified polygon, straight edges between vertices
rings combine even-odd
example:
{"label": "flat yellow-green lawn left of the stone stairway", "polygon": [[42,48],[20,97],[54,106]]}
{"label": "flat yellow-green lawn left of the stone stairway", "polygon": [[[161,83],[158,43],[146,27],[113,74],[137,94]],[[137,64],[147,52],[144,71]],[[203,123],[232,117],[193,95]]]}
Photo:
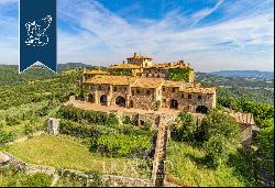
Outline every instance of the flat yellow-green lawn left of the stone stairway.
{"label": "flat yellow-green lawn left of the stone stairway", "polygon": [[[131,168],[127,158],[108,158],[92,154],[78,140],[70,136],[42,135],[29,141],[6,146],[4,151],[33,164],[48,165],[56,168],[72,168],[82,172],[96,170],[106,174],[118,174],[130,177],[147,177],[148,172],[136,168],[138,174]],[[106,164],[106,170],[103,166]],[[111,165],[117,165],[111,172]],[[125,170],[124,169],[125,165]]]}

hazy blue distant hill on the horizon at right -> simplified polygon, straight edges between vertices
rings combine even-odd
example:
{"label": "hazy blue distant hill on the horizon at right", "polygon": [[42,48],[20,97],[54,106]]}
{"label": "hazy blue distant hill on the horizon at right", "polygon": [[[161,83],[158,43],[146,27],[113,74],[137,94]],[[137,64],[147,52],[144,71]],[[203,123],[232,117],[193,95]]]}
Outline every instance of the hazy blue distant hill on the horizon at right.
{"label": "hazy blue distant hill on the horizon at right", "polygon": [[243,78],[262,78],[274,79],[274,71],[260,71],[260,70],[220,70],[212,71],[212,75],[224,77],[243,77]]}

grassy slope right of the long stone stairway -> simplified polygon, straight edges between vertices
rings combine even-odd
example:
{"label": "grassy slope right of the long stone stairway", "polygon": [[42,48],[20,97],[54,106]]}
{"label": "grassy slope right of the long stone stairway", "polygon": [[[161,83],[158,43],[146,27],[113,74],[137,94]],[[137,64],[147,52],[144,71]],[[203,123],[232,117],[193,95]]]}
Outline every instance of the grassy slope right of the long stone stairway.
{"label": "grassy slope right of the long stone stairway", "polygon": [[234,167],[208,168],[202,163],[204,156],[201,150],[170,141],[167,161],[173,167],[167,167],[167,179],[182,186],[245,186],[245,179],[237,175]]}

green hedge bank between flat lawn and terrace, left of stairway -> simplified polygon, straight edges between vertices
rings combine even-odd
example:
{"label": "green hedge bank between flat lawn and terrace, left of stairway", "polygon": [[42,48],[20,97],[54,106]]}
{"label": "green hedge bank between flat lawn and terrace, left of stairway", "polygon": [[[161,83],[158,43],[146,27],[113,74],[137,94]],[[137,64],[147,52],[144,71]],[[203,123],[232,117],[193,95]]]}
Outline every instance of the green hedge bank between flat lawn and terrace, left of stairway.
{"label": "green hedge bank between flat lawn and terrace, left of stairway", "polygon": [[63,119],[59,132],[85,139],[92,152],[108,156],[152,157],[154,133],[132,125],[102,126]]}

